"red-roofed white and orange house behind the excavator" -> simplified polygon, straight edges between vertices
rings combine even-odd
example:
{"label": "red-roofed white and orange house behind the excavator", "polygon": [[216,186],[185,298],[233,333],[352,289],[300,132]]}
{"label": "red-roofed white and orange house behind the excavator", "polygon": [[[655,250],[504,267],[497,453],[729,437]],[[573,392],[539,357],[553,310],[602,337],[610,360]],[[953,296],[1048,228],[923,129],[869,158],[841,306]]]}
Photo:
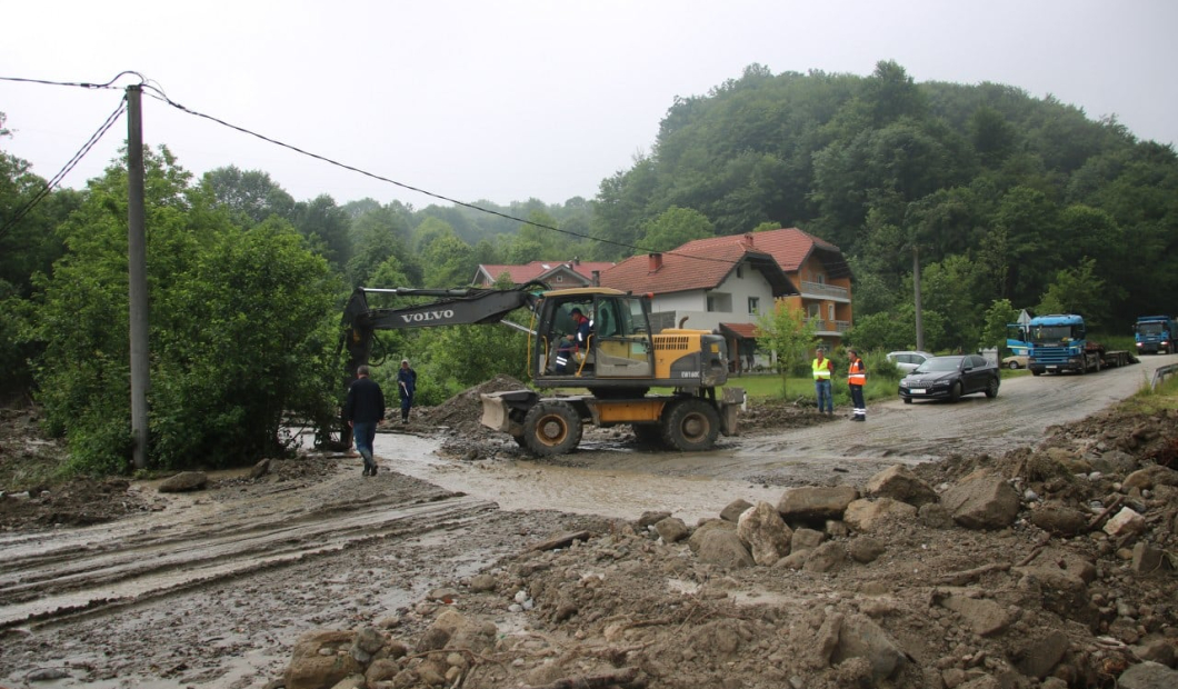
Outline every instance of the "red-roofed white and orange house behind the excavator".
{"label": "red-roofed white and orange house behind the excavator", "polygon": [[806,311],[828,349],[851,327],[851,267],[838,246],[796,227],[696,239],[663,253],[627,259],[601,284],[653,294],[651,310],[676,325],[716,330],[746,366],[756,319],[775,299]]}

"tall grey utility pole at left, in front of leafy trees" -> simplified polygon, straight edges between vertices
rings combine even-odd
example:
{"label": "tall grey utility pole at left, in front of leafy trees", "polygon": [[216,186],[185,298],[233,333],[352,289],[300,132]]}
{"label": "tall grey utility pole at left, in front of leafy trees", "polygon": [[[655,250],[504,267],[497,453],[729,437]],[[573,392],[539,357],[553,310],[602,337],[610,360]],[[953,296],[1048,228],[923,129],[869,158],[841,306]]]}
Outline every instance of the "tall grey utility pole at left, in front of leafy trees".
{"label": "tall grey utility pole at left, in front of leafy trees", "polygon": [[147,232],[143,90],[127,86],[127,264],[131,304],[131,435],[135,469],[147,468]]}

